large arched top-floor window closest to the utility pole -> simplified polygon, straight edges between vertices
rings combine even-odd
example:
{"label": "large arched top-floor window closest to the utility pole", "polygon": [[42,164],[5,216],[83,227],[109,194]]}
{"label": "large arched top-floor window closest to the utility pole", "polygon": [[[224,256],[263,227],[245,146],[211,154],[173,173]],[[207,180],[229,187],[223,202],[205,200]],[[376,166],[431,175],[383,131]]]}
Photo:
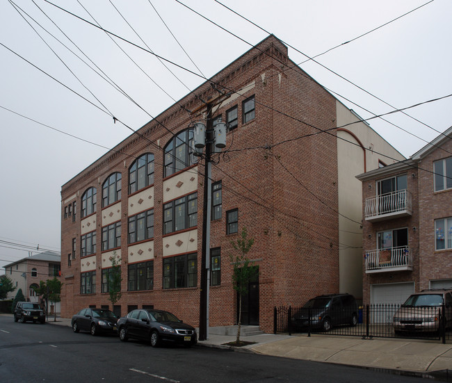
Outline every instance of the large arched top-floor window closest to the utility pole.
{"label": "large arched top-floor window closest to the utility pole", "polygon": [[168,177],[195,163],[193,156],[193,129],[181,131],[165,147],[165,174]]}

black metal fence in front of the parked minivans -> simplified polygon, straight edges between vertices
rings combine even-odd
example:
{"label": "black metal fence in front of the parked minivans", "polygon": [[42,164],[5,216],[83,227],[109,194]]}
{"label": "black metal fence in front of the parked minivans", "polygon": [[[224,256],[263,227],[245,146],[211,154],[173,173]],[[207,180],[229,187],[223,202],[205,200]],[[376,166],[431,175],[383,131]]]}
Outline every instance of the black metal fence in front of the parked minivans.
{"label": "black metal fence in front of the parked minivans", "polygon": [[452,341],[452,307],[401,307],[368,304],[348,309],[275,307],[274,333],[312,332],[341,336]]}

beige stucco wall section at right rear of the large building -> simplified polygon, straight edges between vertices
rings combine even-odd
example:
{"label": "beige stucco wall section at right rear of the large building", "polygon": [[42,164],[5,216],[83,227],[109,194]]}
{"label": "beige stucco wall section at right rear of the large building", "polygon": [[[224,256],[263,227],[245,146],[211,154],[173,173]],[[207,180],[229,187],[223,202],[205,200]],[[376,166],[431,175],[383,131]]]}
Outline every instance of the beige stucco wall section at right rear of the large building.
{"label": "beige stucco wall section at right rear of the large building", "polygon": [[[337,101],[339,193],[339,292],[362,298],[362,184],[357,174],[404,157],[376,131]],[[351,122],[356,122],[350,124]],[[342,126],[347,125],[344,128]],[[344,216],[342,216],[344,215]],[[350,218],[350,219],[348,219]]]}

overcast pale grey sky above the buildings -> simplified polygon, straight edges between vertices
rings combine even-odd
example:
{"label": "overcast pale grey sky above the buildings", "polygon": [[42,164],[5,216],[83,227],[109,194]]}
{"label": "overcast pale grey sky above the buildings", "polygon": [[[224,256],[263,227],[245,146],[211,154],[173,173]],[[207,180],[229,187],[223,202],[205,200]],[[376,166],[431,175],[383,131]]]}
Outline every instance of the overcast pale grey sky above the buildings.
{"label": "overcast pale grey sky above the buildings", "polygon": [[[131,133],[111,115],[138,129],[267,37],[221,3],[290,44],[296,63],[342,44],[300,67],[362,118],[452,93],[450,0],[52,1],[173,74],[46,1],[14,2],[22,10],[0,3],[0,268],[38,244],[59,252],[61,186]],[[409,157],[451,111],[446,97],[370,124]]]}

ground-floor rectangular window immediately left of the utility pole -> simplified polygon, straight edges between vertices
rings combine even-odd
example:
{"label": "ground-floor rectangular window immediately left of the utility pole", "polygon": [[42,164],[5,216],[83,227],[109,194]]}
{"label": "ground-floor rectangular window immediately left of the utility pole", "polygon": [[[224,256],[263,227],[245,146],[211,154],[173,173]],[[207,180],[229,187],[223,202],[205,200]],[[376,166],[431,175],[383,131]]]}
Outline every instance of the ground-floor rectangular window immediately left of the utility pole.
{"label": "ground-floor rectangular window immediately left of the utility pole", "polygon": [[197,286],[197,254],[163,259],[163,288]]}

